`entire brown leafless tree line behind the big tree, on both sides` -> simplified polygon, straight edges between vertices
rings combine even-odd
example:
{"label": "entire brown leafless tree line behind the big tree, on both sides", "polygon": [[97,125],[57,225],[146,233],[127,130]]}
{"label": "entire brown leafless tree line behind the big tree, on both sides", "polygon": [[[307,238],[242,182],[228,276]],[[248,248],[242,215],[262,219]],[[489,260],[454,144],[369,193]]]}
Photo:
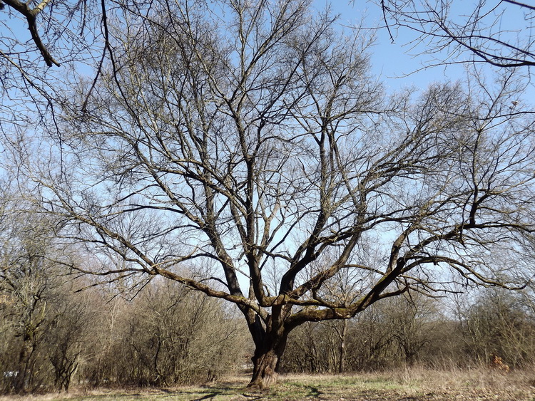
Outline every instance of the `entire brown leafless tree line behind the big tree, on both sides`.
{"label": "entire brown leafless tree line behind the big tree, on both sides", "polygon": [[[6,254],[17,269],[6,271]],[[228,305],[155,280],[102,288],[47,264],[47,249],[2,249],[0,390],[205,383],[250,372],[253,344]],[[83,288],[83,291],[79,291]],[[374,304],[348,321],[306,323],[292,332],[285,373],[354,373],[414,365],[511,368],[535,363],[535,309],[524,292],[419,294]]]}

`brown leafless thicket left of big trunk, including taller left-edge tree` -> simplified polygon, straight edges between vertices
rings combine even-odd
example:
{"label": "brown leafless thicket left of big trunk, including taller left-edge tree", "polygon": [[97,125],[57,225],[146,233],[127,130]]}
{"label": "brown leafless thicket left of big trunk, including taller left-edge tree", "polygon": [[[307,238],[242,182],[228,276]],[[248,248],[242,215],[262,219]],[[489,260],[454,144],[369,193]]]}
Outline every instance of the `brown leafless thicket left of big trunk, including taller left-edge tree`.
{"label": "brown leafless thicket left of big trunk, including taller left-edge tree", "polygon": [[0,392],[205,382],[243,365],[228,305],[161,279],[95,286],[55,261],[51,220],[1,198]]}

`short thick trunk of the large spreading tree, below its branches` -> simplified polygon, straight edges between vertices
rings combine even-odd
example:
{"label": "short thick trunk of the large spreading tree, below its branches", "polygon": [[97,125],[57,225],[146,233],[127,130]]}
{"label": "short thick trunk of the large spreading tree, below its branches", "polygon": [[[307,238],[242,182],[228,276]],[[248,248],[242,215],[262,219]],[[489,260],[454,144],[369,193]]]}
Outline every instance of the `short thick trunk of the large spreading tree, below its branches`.
{"label": "short thick trunk of the large spreading tree, below its branches", "polygon": [[280,358],[286,348],[287,335],[265,335],[262,345],[256,345],[253,355],[253,377],[248,388],[264,390],[277,382]]}

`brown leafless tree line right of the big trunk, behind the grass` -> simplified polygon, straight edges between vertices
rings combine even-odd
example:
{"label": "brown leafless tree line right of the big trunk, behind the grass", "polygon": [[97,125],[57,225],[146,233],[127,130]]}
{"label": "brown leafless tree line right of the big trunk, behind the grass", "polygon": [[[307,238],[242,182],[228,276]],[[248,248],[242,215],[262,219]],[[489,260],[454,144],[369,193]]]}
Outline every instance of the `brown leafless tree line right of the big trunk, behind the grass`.
{"label": "brown leafless tree line right of the big trunk, behind the grass", "polygon": [[[464,297],[463,297],[464,298]],[[420,296],[378,303],[347,322],[309,323],[290,337],[283,370],[301,373],[481,368],[494,356],[511,368],[535,363],[535,315],[523,293],[496,288],[471,298]],[[345,352],[340,343],[345,340]]]}

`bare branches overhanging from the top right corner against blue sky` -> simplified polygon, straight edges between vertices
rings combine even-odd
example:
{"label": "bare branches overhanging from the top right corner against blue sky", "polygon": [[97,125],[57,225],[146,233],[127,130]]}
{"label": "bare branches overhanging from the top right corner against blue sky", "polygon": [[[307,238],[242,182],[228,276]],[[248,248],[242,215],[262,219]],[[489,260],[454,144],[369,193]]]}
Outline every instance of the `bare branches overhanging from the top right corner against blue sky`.
{"label": "bare branches overhanging from the top right corner against blue sky", "polygon": [[[417,33],[412,44],[425,43],[424,53],[444,54],[446,60],[436,60],[438,63],[535,66],[533,4],[513,0],[479,0],[462,6],[452,0],[374,2],[382,8],[392,41],[397,28],[409,28]],[[464,53],[469,54],[468,59],[462,59]]]}

